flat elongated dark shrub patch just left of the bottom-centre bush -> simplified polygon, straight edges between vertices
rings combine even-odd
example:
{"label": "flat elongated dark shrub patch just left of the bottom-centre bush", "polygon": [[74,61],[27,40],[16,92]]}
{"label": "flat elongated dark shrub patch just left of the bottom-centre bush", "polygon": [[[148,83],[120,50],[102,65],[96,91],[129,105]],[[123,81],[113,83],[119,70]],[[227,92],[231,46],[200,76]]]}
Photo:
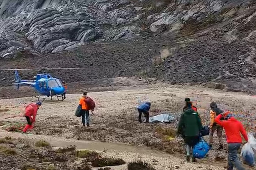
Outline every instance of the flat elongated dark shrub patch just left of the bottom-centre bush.
{"label": "flat elongated dark shrub patch just left of the bottom-centre bush", "polygon": [[125,163],[126,162],[121,158],[98,158],[92,161],[92,166],[93,167],[117,166]]}

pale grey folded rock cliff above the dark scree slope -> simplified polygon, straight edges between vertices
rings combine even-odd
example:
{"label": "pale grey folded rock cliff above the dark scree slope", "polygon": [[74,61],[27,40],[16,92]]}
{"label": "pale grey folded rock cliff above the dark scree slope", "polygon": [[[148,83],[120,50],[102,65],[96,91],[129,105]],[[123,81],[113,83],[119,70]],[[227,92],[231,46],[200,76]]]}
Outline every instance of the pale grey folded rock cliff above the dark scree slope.
{"label": "pale grey folded rock cliff above the dark scree slope", "polygon": [[[57,53],[92,41],[140,36],[145,30],[170,33],[187,29],[184,26],[187,21],[223,21],[241,10],[238,8],[246,10],[252,3],[249,0],[0,0],[0,57],[16,57],[24,51],[33,55]],[[216,13],[223,14],[213,16]],[[247,38],[253,41],[254,34]]]}

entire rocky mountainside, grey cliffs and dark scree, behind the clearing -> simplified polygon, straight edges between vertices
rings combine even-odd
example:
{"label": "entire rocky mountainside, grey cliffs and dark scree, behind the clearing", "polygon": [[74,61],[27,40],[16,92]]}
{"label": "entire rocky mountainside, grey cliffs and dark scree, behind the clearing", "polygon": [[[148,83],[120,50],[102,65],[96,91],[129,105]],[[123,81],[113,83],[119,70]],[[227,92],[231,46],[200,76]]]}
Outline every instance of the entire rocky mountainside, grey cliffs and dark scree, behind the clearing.
{"label": "entire rocky mountainside, grey cliffs and dark scree, behind the clearing", "polygon": [[[56,59],[43,65],[61,67],[72,58],[68,66],[97,72],[90,78],[143,74],[256,88],[255,0],[0,0],[0,25],[1,68]],[[6,60],[13,58],[25,64]]]}

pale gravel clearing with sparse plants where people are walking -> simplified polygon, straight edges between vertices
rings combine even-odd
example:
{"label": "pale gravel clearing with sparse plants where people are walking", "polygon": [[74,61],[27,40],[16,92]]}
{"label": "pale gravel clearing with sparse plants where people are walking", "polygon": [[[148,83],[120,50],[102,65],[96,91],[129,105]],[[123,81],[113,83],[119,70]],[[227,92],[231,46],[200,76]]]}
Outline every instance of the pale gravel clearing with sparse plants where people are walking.
{"label": "pale gravel clearing with sparse plants where people are walking", "polygon": [[[46,99],[38,110],[34,129],[27,135],[22,135],[18,129],[16,133],[7,132],[6,129],[12,126],[22,127],[26,123],[24,117],[19,115],[24,111],[24,106],[30,103],[30,98],[0,100],[0,128],[2,129],[0,136],[11,135],[31,140],[44,139],[55,147],[64,147],[73,143],[78,149],[104,151],[104,154],[123,158],[126,162],[142,159],[154,165],[156,169],[210,170],[226,166],[227,147],[225,146],[222,151],[217,150],[218,140],[214,136],[214,149],[210,150],[208,156],[198,160],[198,163],[187,163],[184,160],[182,139],[176,137],[172,141],[165,141],[159,133],[159,129],[176,129],[178,121],[170,124],[138,123],[136,111],[138,98],[141,100],[148,98],[152,102],[150,115],[167,111],[178,120],[184,98],[190,97],[198,107],[203,124],[209,124],[209,104],[216,101],[220,108],[237,112],[240,121],[246,125],[247,131],[255,131],[253,124],[248,122],[255,121],[256,98],[242,93],[197,86],[170,86],[164,83],[138,90],[134,88],[133,90],[92,92],[88,96],[95,100],[96,109],[95,115],[90,115],[89,128],[82,127],[80,117],[74,115],[80,96],[81,94],[67,94],[67,99],[63,102]],[[243,116],[239,116],[238,113],[242,113]],[[208,137],[205,139],[208,141]],[[122,165],[114,169],[124,167],[125,165]]]}

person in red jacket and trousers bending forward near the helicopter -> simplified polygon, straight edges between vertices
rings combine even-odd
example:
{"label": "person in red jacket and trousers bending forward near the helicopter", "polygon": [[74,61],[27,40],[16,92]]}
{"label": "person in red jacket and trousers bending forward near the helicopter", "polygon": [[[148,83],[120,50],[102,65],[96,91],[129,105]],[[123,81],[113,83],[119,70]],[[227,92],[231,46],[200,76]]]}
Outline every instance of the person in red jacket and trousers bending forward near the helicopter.
{"label": "person in red jacket and trousers bending forward near the helicopter", "polygon": [[[28,124],[22,130],[23,133],[26,133],[28,129],[33,129],[34,123],[36,121],[37,110],[41,105],[42,105],[42,102],[39,101],[26,106],[24,116],[26,117]],[[33,116],[33,118],[31,116]]]}

